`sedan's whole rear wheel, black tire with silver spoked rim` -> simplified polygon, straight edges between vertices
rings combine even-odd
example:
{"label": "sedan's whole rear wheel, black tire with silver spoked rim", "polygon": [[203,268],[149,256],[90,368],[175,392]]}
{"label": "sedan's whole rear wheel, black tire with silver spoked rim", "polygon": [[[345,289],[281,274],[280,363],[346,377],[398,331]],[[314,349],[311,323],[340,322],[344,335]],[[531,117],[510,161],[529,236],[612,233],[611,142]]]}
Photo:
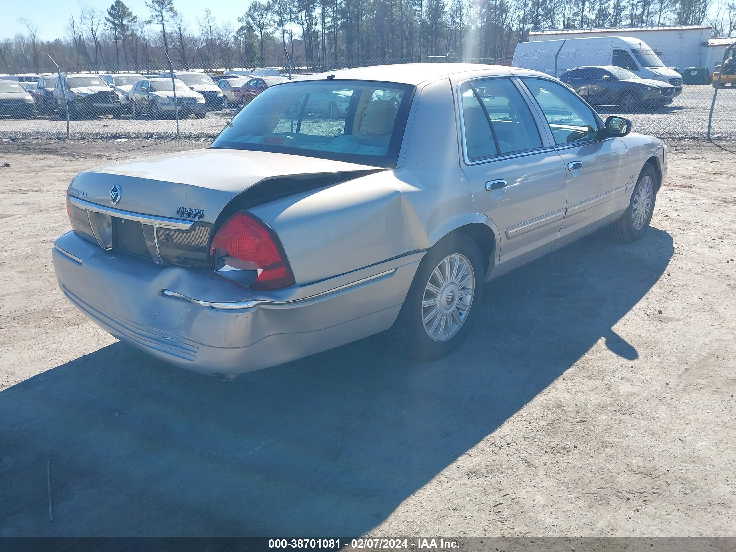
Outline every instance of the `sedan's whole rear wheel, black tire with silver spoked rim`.
{"label": "sedan's whole rear wheel, black tire with silver spoked rim", "polygon": [[[463,275],[456,276],[456,280],[447,279],[448,266],[450,275],[460,270]],[[444,286],[438,276],[445,277]],[[431,291],[430,285],[439,288],[439,293]],[[478,311],[477,306],[473,307],[483,296],[483,285],[483,261],[475,241],[457,232],[442,238],[422,258],[399,316],[386,331],[386,337],[402,353],[422,361],[447,355],[470,331]]]}

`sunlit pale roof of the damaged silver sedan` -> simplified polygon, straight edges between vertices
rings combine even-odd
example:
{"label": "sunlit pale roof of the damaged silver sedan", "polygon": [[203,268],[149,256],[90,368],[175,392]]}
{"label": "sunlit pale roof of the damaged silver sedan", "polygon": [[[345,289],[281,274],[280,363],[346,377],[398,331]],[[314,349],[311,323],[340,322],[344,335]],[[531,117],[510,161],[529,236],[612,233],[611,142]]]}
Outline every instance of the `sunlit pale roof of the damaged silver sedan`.
{"label": "sunlit pale roof of the damaged silver sedan", "polygon": [[[298,77],[299,80],[324,80],[328,75],[335,75],[341,80],[378,80],[383,82],[400,82],[408,85],[418,85],[428,80],[447,77],[452,74],[468,73],[470,71],[492,71],[499,74],[508,74],[514,68],[508,66],[484,65],[481,63],[397,63],[387,66],[358,67],[353,69],[338,69],[325,71],[308,76]],[[537,71],[533,71],[537,73]]]}

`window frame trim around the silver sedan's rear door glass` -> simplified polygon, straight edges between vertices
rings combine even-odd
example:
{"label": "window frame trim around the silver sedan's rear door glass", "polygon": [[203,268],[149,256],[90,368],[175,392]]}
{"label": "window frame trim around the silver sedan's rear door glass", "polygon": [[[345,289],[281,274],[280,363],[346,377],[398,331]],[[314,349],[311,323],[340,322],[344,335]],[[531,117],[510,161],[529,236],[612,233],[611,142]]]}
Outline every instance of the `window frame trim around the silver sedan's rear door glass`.
{"label": "window frame trim around the silver sedan's rear door glass", "polygon": [[[516,152],[509,152],[509,153],[500,153],[498,150],[498,143],[496,144],[496,149],[499,151],[496,153],[496,155],[489,155],[484,158],[479,158],[475,160],[470,160],[470,158],[467,155],[467,144],[465,142],[465,119],[464,119],[464,113],[463,113],[463,105],[462,105],[462,88],[465,84],[470,84],[471,89],[473,90],[473,96],[478,99],[478,96],[475,94],[475,82],[479,82],[481,80],[491,80],[491,79],[508,79],[512,82],[512,85],[514,85],[517,88],[517,91],[519,91],[521,95],[521,99],[526,103],[526,106],[529,109],[529,113],[531,113],[531,118],[534,120],[534,124],[537,126],[537,132],[539,133],[539,141],[542,142],[542,147],[539,148],[530,148],[530,149],[519,149]],[[467,79],[461,79],[456,83],[455,87],[455,95],[456,95],[456,109],[458,110],[458,116],[460,121],[460,133],[459,133],[459,140],[460,140],[460,147],[462,151],[462,161],[467,166],[473,166],[473,165],[481,165],[483,163],[492,163],[493,161],[500,161],[505,159],[513,159],[513,158],[520,158],[520,157],[526,157],[527,155],[534,155],[539,152],[551,152],[554,149],[554,140],[551,136],[551,131],[549,130],[549,124],[547,123],[547,119],[544,118],[541,121],[539,120],[539,113],[536,110],[536,100],[534,100],[534,103],[530,104],[529,96],[526,91],[526,87],[523,87],[520,85],[520,82],[518,81],[518,77],[512,74],[502,74],[502,75],[481,75],[481,76],[475,76],[470,77]],[[483,102],[480,102],[481,107],[484,110],[484,113],[486,115],[486,120],[489,118],[489,114],[486,110],[486,106],[483,104]],[[545,127],[542,125],[540,128],[540,124],[546,124],[546,130]],[[493,125],[489,124],[491,127],[491,132],[493,133],[493,138],[495,141],[495,130],[493,129]]]}

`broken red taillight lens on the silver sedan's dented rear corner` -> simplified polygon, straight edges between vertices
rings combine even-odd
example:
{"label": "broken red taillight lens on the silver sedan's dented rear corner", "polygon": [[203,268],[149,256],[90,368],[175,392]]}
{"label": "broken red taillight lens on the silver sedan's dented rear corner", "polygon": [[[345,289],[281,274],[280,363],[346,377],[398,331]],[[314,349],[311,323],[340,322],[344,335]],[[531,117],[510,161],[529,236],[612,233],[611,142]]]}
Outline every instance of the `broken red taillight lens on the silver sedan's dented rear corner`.
{"label": "broken red taillight lens on the silver sedan's dented rear corner", "polygon": [[212,240],[210,255],[230,255],[255,263],[261,274],[251,289],[280,289],[294,285],[294,275],[276,236],[247,213],[236,213],[227,219]]}

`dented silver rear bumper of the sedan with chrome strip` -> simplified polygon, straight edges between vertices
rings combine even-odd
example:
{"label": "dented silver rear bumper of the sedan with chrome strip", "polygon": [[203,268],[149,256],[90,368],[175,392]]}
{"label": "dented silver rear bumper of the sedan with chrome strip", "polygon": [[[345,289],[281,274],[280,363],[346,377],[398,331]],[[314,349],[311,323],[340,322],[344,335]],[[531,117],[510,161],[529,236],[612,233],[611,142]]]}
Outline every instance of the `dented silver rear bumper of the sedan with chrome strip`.
{"label": "dented silver rear bumper of the sedan with chrome strip", "polygon": [[52,256],[66,297],[122,342],[194,372],[239,374],[390,328],[422,255],[269,293],[106,252],[71,232]]}

